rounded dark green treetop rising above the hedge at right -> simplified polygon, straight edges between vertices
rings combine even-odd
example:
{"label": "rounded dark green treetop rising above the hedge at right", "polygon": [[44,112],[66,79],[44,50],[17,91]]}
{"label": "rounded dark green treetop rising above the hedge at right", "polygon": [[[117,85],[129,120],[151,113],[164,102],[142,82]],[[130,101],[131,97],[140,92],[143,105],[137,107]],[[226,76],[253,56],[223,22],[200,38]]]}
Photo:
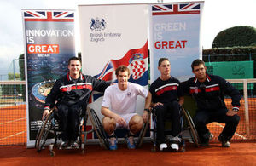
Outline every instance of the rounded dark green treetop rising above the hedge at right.
{"label": "rounded dark green treetop rising above the hedge at right", "polygon": [[252,26],[234,26],[220,31],[214,38],[212,48],[255,46],[256,29]]}

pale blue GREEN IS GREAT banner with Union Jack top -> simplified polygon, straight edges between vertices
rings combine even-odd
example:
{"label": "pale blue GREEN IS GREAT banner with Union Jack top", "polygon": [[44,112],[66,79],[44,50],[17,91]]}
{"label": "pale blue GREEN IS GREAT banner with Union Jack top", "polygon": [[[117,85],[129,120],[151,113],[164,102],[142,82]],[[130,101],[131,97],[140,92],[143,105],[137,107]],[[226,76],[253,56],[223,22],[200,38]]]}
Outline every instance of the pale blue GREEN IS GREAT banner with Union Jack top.
{"label": "pale blue GREEN IS GREAT banner with Union Jack top", "polygon": [[201,59],[200,24],[204,2],[151,5],[150,76],[160,76],[158,60],[168,58],[171,75],[181,82],[193,77],[191,62]]}

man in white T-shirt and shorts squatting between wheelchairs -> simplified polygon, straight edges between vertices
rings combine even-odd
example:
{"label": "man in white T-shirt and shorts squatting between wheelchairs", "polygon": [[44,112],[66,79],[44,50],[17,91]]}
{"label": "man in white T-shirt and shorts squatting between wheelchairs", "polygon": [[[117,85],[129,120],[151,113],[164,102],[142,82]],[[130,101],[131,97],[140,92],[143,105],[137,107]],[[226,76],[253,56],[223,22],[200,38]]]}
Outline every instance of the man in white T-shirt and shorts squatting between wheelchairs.
{"label": "man in white T-shirt and shorts squatting between wheelchairs", "polygon": [[[151,94],[143,86],[128,82],[130,70],[126,66],[119,66],[115,75],[118,83],[106,89],[102,101],[103,128],[109,136],[109,149],[117,149],[115,129],[125,128],[129,133],[125,141],[129,149],[135,149],[134,135],[143,128],[143,121],[148,120],[148,108],[151,102]],[[145,99],[143,117],[135,113],[137,95]]]}

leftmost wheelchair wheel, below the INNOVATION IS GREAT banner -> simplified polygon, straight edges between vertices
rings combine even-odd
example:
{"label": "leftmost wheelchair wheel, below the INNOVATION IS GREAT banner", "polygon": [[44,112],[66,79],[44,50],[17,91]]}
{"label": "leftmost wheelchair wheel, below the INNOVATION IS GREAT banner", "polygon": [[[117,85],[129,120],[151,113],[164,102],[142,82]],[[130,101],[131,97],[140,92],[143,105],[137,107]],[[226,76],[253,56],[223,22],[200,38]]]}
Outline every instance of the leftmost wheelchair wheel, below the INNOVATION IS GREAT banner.
{"label": "leftmost wheelchair wheel, below the INNOVATION IS GREAT banner", "polygon": [[52,124],[51,120],[52,120],[53,115],[54,115],[53,112],[54,111],[51,110],[49,112],[49,114],[46,117],[44,117],[42,126],[38,130],[38,135],[37,135],[37,138],[36,138],[36,141],[35,141],[35,147],[36,147],[38,152],[40,152],[44,148],[45,142],[47,140],[49,129],[51,129],[51,124]]}

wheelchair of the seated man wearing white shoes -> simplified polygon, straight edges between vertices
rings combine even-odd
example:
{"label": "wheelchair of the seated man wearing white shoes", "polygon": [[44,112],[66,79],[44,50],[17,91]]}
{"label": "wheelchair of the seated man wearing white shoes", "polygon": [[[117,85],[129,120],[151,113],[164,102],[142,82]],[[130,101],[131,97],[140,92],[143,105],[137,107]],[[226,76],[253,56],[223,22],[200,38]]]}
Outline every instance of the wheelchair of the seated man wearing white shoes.
{"label": "wheelchair of the seated man wearing white shoes", "polygon": [[[178,136],[181,139],[181,141],[179,142],[180,148],[178,152],[185,152],[185,146],[186,146],[185,140],[188,140],[189,142],[194,143],[195,146],[199,146],[199,137],[195,129],[195,124],[193,123],[193,120],[189,112],[185,110],[183,107],[180,108],[180,112],[181,112],[181,117],[180,117],[181,133]],[[152,115],[152,122],[153,122],[153,125],[150,128],[150,132],[153,133],[153,147],[151,151],[156,152],[157,116],[154,108],[151,109],[151,115]],[[170,120],[170,115],[167,114],[166,122],[170,122],[168,120]],[[172,125],[172,123],[168,123],[168,124]],[[171,142],[168,139],[168,135],[171,135],[171,130],[165,129],[165,135],[166,135],[167,145],[171,144]]]}

